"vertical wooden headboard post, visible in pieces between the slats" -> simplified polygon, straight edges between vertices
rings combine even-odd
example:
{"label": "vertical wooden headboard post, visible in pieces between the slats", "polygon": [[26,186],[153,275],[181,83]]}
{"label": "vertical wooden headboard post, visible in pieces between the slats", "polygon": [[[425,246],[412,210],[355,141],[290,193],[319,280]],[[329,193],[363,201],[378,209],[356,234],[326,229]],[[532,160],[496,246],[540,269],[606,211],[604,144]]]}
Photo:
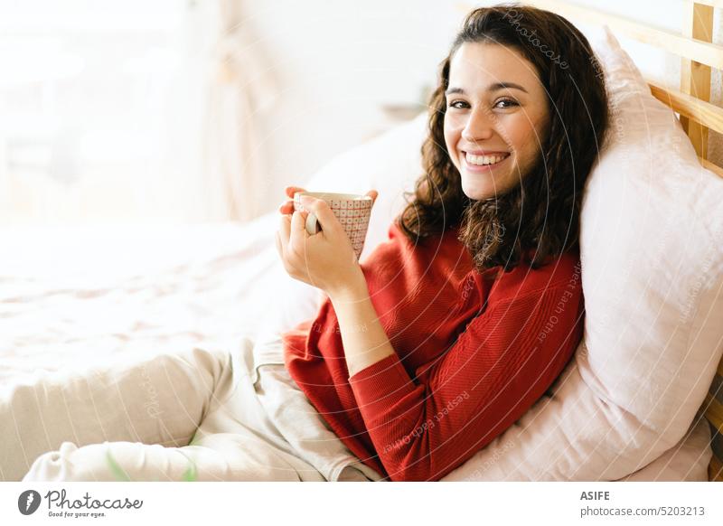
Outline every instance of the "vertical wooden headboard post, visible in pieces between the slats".
{"label": "vertical wooden headboard post, visible in pieces between the slats", "polygon": [[[703,42],[713,42],[713,6],[684,3],[683,35]],[[710,67],[690,59],[681,60],[681,91],[706,102],[710,101]],[[708,159],[708,128],[681,115],[681,125],[701,159]]]}

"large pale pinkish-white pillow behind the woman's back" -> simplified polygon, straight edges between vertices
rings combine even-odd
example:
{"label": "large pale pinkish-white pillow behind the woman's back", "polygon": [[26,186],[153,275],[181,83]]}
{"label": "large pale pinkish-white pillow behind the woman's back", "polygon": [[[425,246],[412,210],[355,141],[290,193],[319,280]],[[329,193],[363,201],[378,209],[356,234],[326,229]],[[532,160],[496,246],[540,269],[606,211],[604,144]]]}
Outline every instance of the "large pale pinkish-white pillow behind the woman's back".
{"label": "large pale pinkish-white pillow behind the woman's back", "polygon": [[613,118],[581,214],[583,343],[551,396],[445,480],[616,480],[660,457],[667,474],[631,479],[708,480],[696,412],[723,350],[723,181],[607,28],[596,52]]}

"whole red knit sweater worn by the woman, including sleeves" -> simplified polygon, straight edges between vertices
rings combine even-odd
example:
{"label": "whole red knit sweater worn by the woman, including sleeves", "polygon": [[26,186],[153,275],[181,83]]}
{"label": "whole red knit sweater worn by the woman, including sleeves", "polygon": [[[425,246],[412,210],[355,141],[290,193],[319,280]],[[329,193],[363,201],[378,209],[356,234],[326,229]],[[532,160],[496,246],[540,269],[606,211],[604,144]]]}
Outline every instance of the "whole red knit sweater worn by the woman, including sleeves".
{"label": "whole red knit sweater worn by the woman, including sleeves", "polygon": [[480,273],[458,230],[411,243],[396,223],[362,263],[395,354],[349,378],[327,298],[283,334],[286,368],[364,464],[393,481],[445,476],[545,393],[582,337],[577,250]]}

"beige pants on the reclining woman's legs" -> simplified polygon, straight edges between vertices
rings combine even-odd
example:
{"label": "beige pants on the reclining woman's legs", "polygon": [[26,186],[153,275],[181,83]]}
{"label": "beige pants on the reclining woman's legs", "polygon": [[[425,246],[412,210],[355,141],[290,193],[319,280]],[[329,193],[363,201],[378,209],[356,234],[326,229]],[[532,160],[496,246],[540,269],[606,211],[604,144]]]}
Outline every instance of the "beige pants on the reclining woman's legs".
{"label": "beige pants on the reclining woman's legs", "polygon": [[368,481],[277,336],[0,388],[5,481]]}

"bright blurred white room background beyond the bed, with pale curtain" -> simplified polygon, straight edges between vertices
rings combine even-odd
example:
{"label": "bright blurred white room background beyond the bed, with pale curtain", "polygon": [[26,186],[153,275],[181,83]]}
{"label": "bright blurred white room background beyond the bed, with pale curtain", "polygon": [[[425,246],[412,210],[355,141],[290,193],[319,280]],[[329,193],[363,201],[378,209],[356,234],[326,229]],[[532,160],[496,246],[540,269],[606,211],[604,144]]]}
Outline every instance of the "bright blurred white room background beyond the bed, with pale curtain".
{"label": "bright blurred white room background beyond the bed, with pale curtain", "polygon": [[460,13],[0,2],[0,225],[249,221],[423,110]]}

